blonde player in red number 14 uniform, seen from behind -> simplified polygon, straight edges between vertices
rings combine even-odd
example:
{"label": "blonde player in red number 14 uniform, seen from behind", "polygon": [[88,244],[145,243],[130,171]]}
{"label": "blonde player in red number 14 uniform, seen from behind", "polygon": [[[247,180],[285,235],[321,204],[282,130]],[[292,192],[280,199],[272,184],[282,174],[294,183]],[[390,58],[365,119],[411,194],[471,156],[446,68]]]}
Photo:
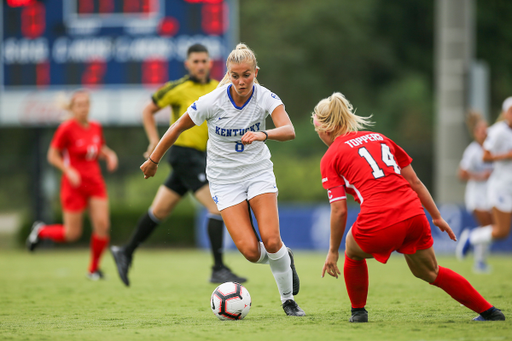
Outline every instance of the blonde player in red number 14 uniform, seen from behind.
{"label": "blonde player in red number 14 uniform, seen from behind", "polygon": [[433,223],[456,240],[441,217],[427,188],[416,176],[405,151],[382,134],[359,132],[370,124],[357,116],[341,93],[321,100],[313,113],[315,130],[329,146],[322,158],[322,184],[331,203],[331,239],[322,276],[341,274],[337,262],[345,231],[345,191],[361,205],[346,238],[344,277],[352,305],[350,322],[368,322],[364,308],[368,296],[366,258],[386,263],[391,252],[403,253],[414,276],[446,291],[480,314],[474,320],[504,320],[459,274],[437,265],[434,241],[422,204]]}

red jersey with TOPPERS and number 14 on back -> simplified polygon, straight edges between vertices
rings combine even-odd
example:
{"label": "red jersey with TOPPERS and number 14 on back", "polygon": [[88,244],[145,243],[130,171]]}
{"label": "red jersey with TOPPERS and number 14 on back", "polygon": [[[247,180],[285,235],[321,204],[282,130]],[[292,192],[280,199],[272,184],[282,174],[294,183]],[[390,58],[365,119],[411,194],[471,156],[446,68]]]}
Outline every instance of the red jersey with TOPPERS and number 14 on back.
{"label": "red jersey with TOPPERS and number 14 on back", "polygon": [[423,214],[418,195],[400,175],[412,159],[393,141],[374,132],[337,137],[320,163],[322,184],[345,186],[361,204],[357,217],[363,232],[383,229]]}

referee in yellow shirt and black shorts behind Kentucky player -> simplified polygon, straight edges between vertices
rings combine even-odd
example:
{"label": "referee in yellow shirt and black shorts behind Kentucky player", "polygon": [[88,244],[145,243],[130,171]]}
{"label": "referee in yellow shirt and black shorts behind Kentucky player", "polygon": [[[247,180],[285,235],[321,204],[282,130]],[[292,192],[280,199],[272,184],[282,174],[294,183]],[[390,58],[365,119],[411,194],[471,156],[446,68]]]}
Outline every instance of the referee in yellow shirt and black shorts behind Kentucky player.
{"label": "referee in yellow shirt and black shorts behind Kentucky player", "polygon": [[[166,83],[153,94],[152,102],[144,108],[142,113],[144,130],[149,139],[148,149],[144,153],[145,158],[151,155],[160,139],[153,115],[160,109],[171,106],[172,124],[186,112],[194,101],[214,90],[219,82],[210,79],[212,64],[205,46],[201,44],[190,46],[185,60],[188,75],[177,81]],[[188,191],[191,191],[209,212],[208,236],[214,260],[210,282],[224,283],[232,281],[243,283],[247,280],[231,272],[222,260],[224,222],[217,205],[211,198],[208,181],[206,180],[207,140],[208,129],[206,123],[189,129],[180,135],[168,153],[168,162],[172,167],[172,172],[158,189],[151,207],[140,218],[129,242],[124,246],[112,246],[110,248],[119,276],[126,286],[130,285],[128,270],[132,263],[133,253],[149,237],[158,224],[169,216]]]}

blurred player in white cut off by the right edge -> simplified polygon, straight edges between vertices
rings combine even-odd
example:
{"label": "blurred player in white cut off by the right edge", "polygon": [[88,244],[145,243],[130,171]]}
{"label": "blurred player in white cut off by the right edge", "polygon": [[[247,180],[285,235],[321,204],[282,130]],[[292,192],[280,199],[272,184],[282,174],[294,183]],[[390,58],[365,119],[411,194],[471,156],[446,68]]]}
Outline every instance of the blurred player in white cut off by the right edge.
{"label": "blurred player in white cut off by the right edge", "polygon": [[464,230],[457,245],[457,256],[464,257],[472,246],[505,239],[512,223],[512,97],[502,106],[503,120],[489,128],[483,160],[494,162],[487,195],[494,223],[472,231]]}

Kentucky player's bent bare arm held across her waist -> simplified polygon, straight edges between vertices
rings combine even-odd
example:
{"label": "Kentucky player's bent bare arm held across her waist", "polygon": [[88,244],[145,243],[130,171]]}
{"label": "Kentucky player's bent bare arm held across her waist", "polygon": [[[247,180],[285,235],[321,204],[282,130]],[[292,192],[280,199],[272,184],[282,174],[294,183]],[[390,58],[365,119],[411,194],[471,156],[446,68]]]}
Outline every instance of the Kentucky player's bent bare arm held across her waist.
{"label": "Kentucky player's bent bare arm held across her waist", "polygon": [[[274,122],[275,128],[266,130],[269,140],[288,141],[295,138],[295,128],[293,128],[292,121],[283,105],[279,105],[272,112],[272,122]],[[261,131],[248,131],[242,136],[242,143],[251,144],[254,141],[265,141],[265,139],[267,139],[267,135]]]}

